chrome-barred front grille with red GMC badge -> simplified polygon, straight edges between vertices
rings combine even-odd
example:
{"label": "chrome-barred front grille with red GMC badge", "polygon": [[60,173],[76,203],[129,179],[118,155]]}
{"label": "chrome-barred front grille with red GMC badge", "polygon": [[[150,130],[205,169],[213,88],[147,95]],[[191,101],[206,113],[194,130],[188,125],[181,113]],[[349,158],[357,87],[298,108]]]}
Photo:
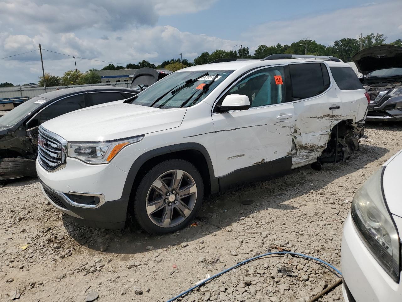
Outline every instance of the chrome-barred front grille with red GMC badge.
{"label": "chrome-barred front grille with red GMC badge", "polygon": [[59,135],[39,126],[38,160],[48,172],[56,172],[66,166],[67,141]]}

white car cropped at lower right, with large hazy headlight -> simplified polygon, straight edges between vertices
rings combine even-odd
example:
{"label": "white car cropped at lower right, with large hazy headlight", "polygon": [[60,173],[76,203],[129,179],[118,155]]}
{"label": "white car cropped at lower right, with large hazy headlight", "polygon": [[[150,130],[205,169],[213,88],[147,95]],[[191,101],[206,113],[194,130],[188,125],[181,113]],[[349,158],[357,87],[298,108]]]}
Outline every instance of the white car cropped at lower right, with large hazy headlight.
{"label": "white car cropped at lower right, with large hazy headlight", "polygon": [[347,302],[402,301],[402,151],[356,192],[342,237]]}

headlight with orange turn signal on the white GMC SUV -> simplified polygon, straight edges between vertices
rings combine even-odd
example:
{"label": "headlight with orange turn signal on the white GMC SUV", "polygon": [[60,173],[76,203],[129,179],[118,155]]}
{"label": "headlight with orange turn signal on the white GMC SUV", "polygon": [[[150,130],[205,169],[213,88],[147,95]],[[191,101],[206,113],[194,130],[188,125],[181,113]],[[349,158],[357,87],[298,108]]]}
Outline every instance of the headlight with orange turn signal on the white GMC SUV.
{"label": "headlight with orange turn signal on the white GMC SUV", "polygon": [[108,163],[125,146],[137,143],[144,135],[105,142],[71,142],[68,143],[68,156],[75,157],[86,163]]}

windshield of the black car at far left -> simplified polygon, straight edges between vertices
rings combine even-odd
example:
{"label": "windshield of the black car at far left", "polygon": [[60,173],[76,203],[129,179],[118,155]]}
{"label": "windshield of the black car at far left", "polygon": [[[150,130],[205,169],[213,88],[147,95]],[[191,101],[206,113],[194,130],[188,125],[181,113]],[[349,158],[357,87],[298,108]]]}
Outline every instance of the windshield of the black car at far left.
{"label": "windshield of the black car at far left", "polygon": [[28,101],[25,101],[18,107],[14,108],[6,115],[0,118],[0,126],[14,126],[16,123],[20,122],[25,116],[36,112],[36,110],[42,106],[43,103],[49,101],[43,97],[33,97]]}

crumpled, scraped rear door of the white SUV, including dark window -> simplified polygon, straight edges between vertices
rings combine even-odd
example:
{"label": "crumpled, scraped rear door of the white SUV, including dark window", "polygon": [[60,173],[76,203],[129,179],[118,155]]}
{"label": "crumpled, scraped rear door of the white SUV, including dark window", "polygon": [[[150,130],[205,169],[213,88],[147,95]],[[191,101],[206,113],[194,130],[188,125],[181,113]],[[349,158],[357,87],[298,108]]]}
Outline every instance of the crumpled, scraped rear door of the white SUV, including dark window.
{"label": "crumpled, scraped rear door of the white SUV, including dark window", "polygon": [[342,102],[330,89],[324,63],[289,64],[292,101],[297,116],[292,141],[292,168],[316,161],[332,127],[342,120]]}

